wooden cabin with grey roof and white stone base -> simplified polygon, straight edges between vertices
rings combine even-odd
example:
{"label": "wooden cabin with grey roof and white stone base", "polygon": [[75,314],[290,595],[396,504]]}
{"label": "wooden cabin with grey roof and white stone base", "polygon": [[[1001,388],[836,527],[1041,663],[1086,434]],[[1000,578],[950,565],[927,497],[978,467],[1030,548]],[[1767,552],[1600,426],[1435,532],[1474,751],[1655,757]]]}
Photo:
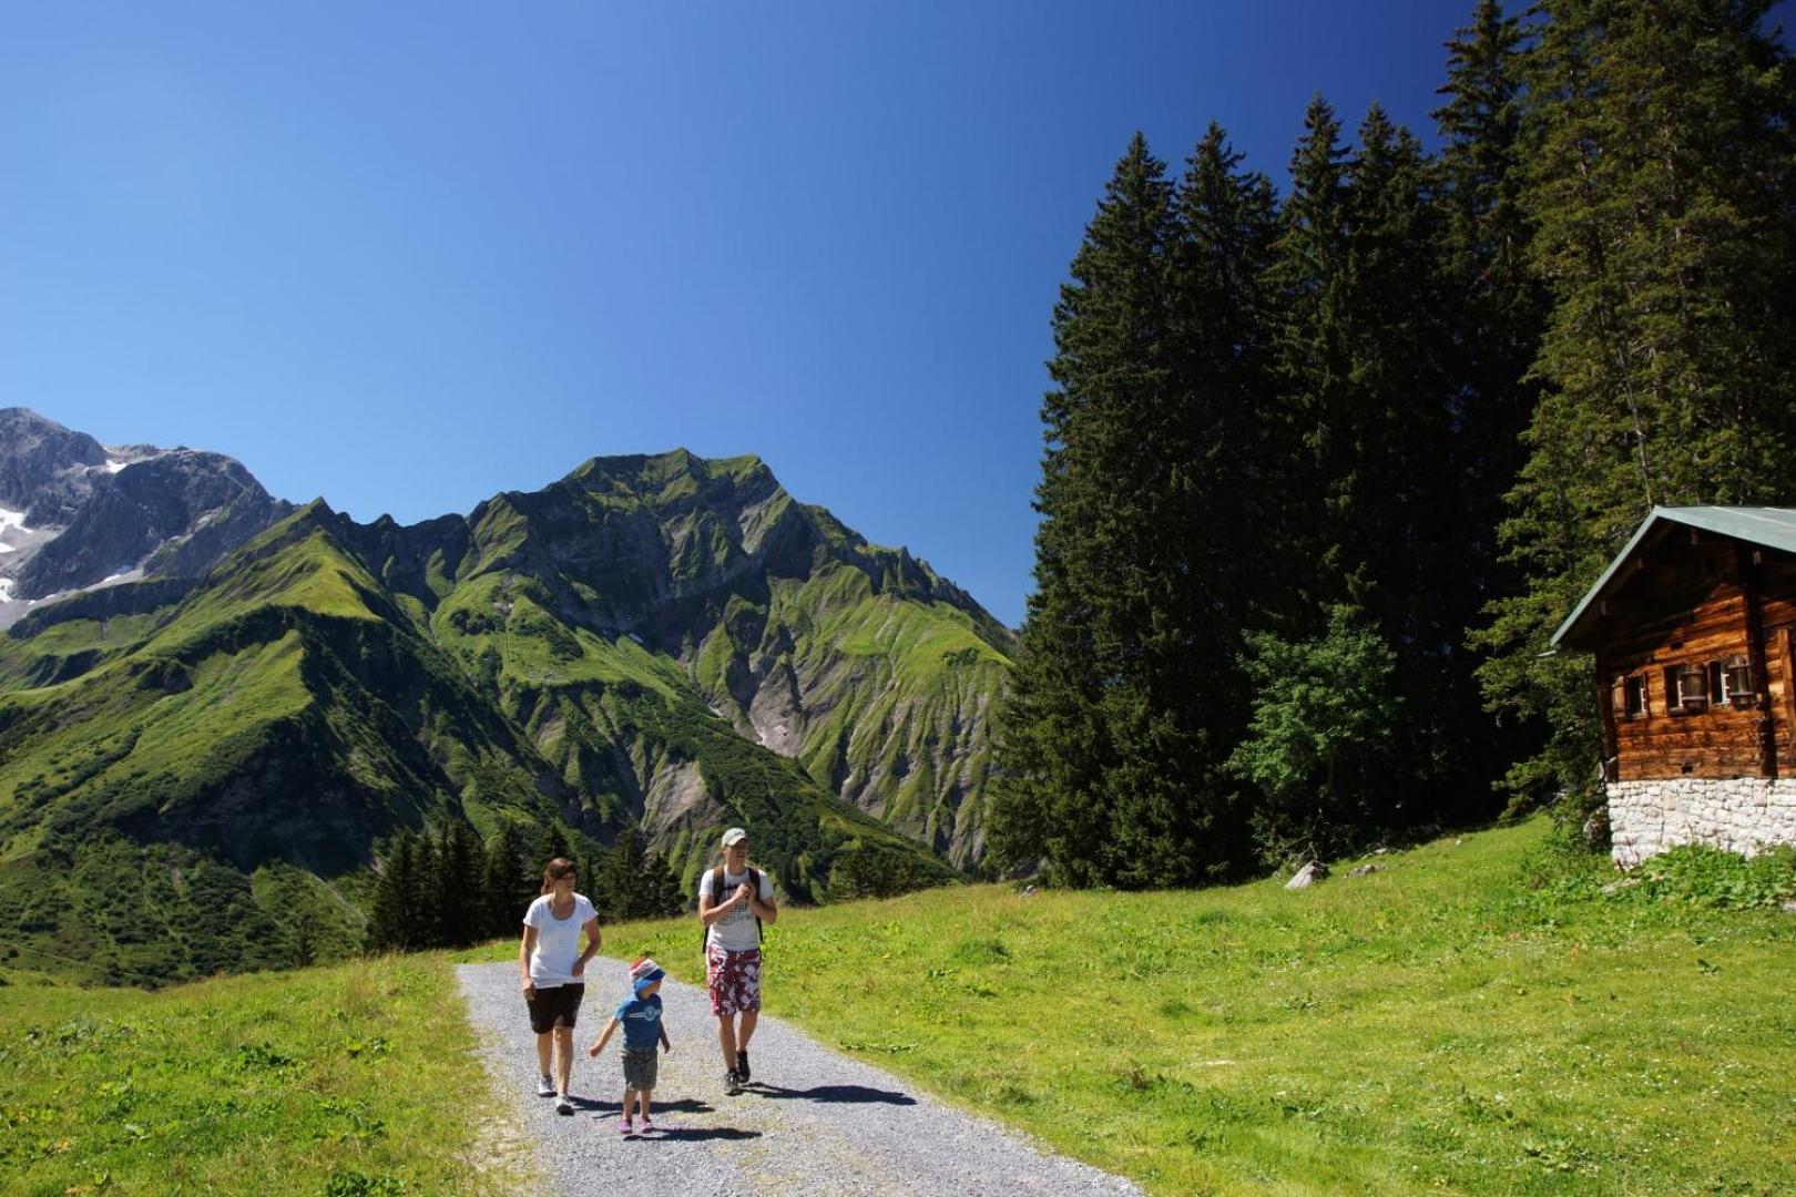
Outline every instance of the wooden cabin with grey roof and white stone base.
{"label": "wooden cabin with grey roof and white stone base", "polygon": [[1595,655],[1616,863],[1796,843],[1796,510],[1654,508],[1554,648]]}

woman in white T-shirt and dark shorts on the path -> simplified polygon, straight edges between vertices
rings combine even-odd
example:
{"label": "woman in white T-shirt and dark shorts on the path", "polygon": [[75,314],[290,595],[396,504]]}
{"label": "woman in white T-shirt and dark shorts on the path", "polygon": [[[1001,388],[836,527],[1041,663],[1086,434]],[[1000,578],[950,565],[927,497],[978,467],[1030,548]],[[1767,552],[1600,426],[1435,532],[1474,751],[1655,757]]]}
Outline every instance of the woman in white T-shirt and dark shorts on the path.
{"label": "woman in white T-shirt and dark shorts on the path", "polygon": [[[530,1028],[537,1032],[537,1064],[542,1079],[537,1097],[553,1097],[557,1114],[571,1114],[568,1073],[573,1066],[573,1025],[585,996],[585,962],[598,955],[598,912],[585,894],[573,892],[573,861],[557,856],[542,869],[542,897],[524,912],[524,940],[517,971]],[[580,933],[585,933],[585,951]],[[553,1052],[551,1052],[553,1048]],[[553,1055],[555,1077],[550,1077]]]}

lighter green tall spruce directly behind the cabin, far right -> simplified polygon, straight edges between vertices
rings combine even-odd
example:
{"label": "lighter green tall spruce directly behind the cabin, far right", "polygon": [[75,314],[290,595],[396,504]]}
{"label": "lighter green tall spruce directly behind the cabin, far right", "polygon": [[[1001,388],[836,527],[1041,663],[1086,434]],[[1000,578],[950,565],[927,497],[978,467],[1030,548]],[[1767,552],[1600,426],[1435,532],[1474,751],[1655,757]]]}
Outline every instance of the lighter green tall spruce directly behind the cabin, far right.
{"label": "lighter green tall spruce directly behind the cabin, far right", "polygon": [[1492,703],[1550,725],[1510,784],[1593,793],[1597,695],[1539,660],[1654,504],[1796,501],[1796,93],[1762,0],[1545,0],[1528,52],[1552,296],[1541,402],[1501,537],[1523,589],[1492,605]]}

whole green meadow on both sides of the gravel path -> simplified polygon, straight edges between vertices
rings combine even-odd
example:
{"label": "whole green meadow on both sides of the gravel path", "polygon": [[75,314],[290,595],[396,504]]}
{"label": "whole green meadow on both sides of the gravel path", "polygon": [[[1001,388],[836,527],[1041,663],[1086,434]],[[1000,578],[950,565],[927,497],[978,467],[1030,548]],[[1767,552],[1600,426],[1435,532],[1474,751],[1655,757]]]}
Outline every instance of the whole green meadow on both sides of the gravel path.
{"label": "whole green meadow on both sides of the gravel path", "polygon": [[[1616,888],[1536,820],[1370,863],[792,908],[767,1009],[1157,1193],[1796,1192],[1796,915],[1762,904],[1791,856]],[[700,980],[697,939],[605,948]],[[514,951],[153,994],[0,974],[0,1192],[528,1184],[449,969]]]}

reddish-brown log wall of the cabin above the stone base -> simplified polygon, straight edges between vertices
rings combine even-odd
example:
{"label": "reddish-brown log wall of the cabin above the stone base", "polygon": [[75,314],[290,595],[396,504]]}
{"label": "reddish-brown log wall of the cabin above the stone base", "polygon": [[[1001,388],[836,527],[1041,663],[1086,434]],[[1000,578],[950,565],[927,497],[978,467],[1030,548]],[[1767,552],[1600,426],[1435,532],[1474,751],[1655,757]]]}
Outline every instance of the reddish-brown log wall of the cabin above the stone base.
{"label": "reddish-brown log wall of the cabin above the stone base", "polygon": [[[1765,765],[1796,775],[1796,565],[1764,558],[1721,537],[1677,537],[1642,555],[1611,592],[1609,635],[1597,657],[1598,686],[1615,711],[1604,727],[1604,738],[1613,736],[1604,745],[1611,781],[1760,777]],[[1672,711],[1667,669],[1749,657],[1746,583],[1756,590],[1764,628],[1764,677],[1753,678],[1758,700],[1742,707],[1710,695],[1703,711]],[[1645,680],[1645,712],[1634,716],[1622,709],[1618,689],[1631,675]]]}

